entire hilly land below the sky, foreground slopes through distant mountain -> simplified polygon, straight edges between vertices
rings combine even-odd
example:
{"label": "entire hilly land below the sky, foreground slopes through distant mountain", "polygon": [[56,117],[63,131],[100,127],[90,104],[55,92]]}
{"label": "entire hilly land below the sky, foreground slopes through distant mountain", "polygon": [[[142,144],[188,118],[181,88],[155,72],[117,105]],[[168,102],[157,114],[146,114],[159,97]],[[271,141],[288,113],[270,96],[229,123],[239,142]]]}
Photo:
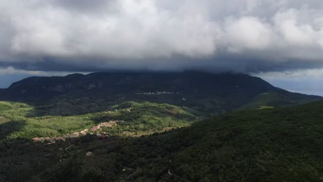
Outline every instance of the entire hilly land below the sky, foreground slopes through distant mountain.
{"label": "entire hilly land below the sky, foreground slopes through distant mountain", "polygon": [[322,97],[246,74],[71,74],[0,92],[0,181],[323,179],[323,101],[308,103]]}

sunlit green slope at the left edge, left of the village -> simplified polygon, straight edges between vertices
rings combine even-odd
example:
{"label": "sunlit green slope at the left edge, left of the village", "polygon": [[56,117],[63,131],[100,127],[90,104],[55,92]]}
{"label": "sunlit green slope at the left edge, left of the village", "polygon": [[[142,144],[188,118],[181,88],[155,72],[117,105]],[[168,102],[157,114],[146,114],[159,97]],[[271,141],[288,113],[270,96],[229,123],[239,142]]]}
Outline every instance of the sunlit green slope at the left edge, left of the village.
{"label": "sunlit green slope at the left edge, left of the village", "polygon": [[30,117],[34,108],[24,103],[6,102],[10,110],[0,112],[0,137],[27,138],[36,136],[59,136],[89,128],[93,124],[88,116],[75,117]]}

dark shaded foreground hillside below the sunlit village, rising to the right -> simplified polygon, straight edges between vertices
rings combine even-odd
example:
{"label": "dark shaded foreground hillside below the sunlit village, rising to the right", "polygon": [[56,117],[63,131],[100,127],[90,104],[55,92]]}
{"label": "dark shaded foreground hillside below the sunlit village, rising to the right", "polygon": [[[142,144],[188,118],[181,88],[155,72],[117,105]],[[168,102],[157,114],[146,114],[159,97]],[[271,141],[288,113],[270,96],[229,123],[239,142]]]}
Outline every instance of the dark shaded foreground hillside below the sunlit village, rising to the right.
{"label": "dark shaded foreground hillside below the sunlit village, rising to the right", "polygon": [[235,111],[135,138],[0,141],[0,181],[322,181],[322,110]]}

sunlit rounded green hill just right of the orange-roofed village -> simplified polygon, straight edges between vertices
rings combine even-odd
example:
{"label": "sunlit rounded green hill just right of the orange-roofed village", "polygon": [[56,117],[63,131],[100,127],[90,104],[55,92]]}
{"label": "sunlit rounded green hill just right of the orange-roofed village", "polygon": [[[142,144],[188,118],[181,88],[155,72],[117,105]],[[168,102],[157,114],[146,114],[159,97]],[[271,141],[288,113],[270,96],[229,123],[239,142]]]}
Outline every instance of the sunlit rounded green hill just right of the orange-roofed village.
{"label": "sunlit rounded green hill just right of the orange-roofed village", "polygon": [[[111,108],[118,112],[94,117],[95,121],[125,121],[119,122],[117,127],[105,128],[108,133],[136,134],[140,131],[157,132],[164,128],[188,126],[197,121],[197,117],[190,112],[174,105],[157,103],[126,102]],[[137,133],[138,134],[138,133]]]}

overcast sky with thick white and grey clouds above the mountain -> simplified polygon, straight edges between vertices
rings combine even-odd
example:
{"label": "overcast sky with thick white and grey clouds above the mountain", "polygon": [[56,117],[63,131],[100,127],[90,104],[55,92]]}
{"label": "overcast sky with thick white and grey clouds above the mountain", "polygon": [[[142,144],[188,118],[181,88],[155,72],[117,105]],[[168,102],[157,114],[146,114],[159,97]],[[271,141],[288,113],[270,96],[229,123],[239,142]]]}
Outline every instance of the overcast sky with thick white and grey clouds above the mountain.
{"label": "overcast sky with thick white and grey clouds above the mountain", "polygon": [[322,0],[1,0],[0,27],[0,88],[30,75],[206,70],[323,95]]}

